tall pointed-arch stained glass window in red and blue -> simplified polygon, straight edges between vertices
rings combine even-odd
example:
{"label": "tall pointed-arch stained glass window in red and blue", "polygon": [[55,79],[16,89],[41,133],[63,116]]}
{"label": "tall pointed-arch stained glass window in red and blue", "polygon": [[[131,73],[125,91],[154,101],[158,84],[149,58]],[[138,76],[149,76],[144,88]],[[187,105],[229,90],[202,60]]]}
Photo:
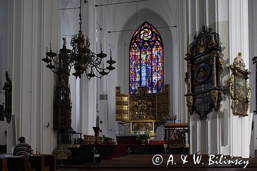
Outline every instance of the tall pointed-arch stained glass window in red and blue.
{"label": "tall pointed-arch stained glass window in red and blue", "polygon": [[144,22],[130,44],[130,93],[146,86],[149,93],[163,91],[163,45],[158,31]]}

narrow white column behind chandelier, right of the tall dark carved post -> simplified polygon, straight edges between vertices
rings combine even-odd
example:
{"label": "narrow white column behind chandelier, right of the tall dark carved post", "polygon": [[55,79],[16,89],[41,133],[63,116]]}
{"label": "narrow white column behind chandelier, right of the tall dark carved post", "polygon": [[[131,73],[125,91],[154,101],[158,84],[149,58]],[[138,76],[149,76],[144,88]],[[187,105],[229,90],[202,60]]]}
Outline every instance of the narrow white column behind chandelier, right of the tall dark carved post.
{"label": "narrow white column behind chandelier, right of the tall dark carved post", "polygon": [[[87,1],[82,4],[82,31],[90,39],[90,49],[96,52],[96,19],[94,1]],[[93,126],[96,126],[96,90],[97,78],[87,80],[85,73],[80,81],[80,115],[81,115],[81,132],[83,134],[94,135]]]}

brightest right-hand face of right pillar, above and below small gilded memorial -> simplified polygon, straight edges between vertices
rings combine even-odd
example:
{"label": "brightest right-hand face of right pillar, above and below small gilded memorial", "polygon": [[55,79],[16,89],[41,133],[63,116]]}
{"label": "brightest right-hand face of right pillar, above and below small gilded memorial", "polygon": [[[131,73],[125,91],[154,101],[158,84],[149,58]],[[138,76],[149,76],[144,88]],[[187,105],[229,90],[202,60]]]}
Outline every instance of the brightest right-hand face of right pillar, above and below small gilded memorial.
{"label": "brightest right-hand face of right pillar, above and below small gilded memorial", "polygon": [[[229,1],[229,60],[232,64],[238,52],[242,52],[242,58],[246,69],[249,68],[248,49],[248,1]],[[249,117],[232,115],[230,110],[230,155],[249,157]],[[248,110],[249,114],[249,110]]]}

